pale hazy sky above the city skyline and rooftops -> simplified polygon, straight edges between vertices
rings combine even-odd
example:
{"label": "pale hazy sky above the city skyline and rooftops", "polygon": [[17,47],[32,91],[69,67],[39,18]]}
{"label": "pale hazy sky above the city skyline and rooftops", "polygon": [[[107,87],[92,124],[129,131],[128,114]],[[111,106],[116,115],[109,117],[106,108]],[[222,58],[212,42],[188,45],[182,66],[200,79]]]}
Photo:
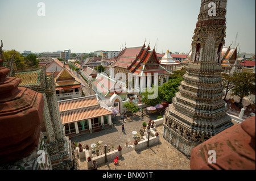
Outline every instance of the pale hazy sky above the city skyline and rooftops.
{"label": "pale hazy sky above the city skyline and rooftops", "polygon": [[[38,16],[38,3],[46,15]],[[19,52],[120,50],[146,45],[160,53],[188,53],[200,0],[0,0],[3,49]],[[255,0],[228,0],[226,46],[255,52]]]}

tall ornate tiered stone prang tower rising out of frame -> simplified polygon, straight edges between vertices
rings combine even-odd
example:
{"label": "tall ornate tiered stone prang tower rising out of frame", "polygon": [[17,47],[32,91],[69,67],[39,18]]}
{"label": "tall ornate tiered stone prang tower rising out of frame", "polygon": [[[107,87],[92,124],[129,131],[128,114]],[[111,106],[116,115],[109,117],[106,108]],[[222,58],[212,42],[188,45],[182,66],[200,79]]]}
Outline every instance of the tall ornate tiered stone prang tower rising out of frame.
{"label": "tall ornate tiered stone prang tower rising out of frame", "polygon": [[195,146],[233,125],[220,77],[226,5],[227,0],[201,1],[187,72],[164,115],[163,137],[187,157]]}

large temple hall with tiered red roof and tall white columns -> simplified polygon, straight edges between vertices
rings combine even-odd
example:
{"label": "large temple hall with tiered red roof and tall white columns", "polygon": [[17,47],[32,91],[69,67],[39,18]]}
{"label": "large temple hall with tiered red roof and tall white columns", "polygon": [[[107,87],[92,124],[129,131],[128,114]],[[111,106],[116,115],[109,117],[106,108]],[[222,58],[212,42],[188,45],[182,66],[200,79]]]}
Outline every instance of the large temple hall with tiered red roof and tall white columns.
{"label": "large temple hall with tiered red roof and tall white columns", "polygon": [[[159,85],[159,78],[163,80],[172,74],[160,65],[155,48],[151,50],[150,46],[146,47],[145,44],[139,47],[125,47],[111,66],[110,78],[119,79],[118,73],[123,73],[125,76],[121,76],[122,80],[119,81],[129,90],[134,88],[142,91],[154,83]],[[158,77],[153,77],[154,74]]]}

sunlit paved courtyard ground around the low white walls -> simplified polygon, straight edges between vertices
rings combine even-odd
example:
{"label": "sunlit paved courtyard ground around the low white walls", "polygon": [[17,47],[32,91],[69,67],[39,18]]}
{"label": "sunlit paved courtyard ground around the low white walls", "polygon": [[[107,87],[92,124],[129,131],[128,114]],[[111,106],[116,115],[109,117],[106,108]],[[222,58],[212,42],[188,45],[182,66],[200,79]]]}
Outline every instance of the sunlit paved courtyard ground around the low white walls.
{"label": "sunlit paved courtyard ground around the low white walls", "polygon": [[[114,121],[114,127],[106,128],[100,132],[94,132],[92,134],[80,133],[76,134],[71,138],[71,141],[80,142],[81,144],[88,144],[89,146],[93,143],[101,141],[102,144],[114,145],[116,149],[120,145],[125,149],[126,142],[134,141],[132,131],[139,131],[142,127],[142,123],[148,119],[156,120],[156,117],[159,116],[159,113],[153,113],[151,115],[146,114],[144,110],[144,117],[142,119],[141,112],[137,113],[137,116],[134,116],[132,121],[125,122],[120,120],[120,116],[117,116],[117,120]],[[161,113],[163,116],[164,111]],[[122,132],[122,124],[125,124],[125,133]],[[108,163],[103,163],[98,165],[99,170],[188,170],[189,159],[185,157],[180,151],[176,150],[171,144],[169,144],[162,137],[163,126],[156,128],[160,136],[160,144],[152,145],[148,149],[141,151],[130,151],[129,153],[123,154],[122,158],[119,158],[119,164],[114,165],[113,161]],[[104,149],[102,148],[100,154],[104,154]],[[150,159],[149,159],[150,158]],[[80,169],[87,169],[85,159],[79,160]]]}

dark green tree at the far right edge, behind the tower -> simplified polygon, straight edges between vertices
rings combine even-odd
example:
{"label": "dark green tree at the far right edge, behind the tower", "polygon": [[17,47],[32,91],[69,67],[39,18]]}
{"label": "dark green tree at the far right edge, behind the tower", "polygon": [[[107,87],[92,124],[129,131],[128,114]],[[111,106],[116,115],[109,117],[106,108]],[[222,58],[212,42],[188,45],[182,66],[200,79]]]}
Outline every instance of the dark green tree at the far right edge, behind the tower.
{"label": "dark green tree at the far right edge, behind the tower", "polygon": [[239,105],[242,107],[242,99],[255,92],[255,73],[234,73],[234,85],[231,95],[240,97]]}

